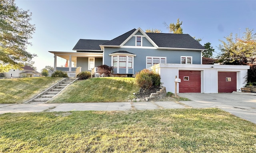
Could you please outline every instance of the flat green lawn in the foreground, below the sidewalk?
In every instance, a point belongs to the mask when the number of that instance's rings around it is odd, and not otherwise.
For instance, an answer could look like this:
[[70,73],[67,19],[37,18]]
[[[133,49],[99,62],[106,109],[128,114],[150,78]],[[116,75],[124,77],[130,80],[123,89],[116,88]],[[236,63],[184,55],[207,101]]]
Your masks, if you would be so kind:
[[220,109],[0,115],[2,153],[255,153],[256,125]]

